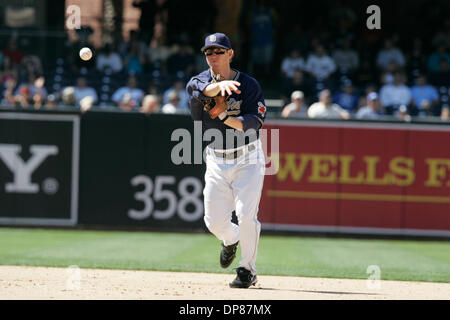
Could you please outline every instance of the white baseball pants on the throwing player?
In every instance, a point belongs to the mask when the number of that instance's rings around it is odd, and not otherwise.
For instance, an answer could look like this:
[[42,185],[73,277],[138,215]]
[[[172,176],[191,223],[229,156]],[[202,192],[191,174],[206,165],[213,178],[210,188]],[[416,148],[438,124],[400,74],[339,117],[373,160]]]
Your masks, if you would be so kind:
[[[209,231],[224,245],[239,241],[242,259],[240,267],[256,274],[256,256],[258,251],[261,224],[257,219],[259,201],[264,182],[265,158],[261,141],[253,143],[256,148],[247,147],[228,149],[234,152],[242,150],[236,159],[218,157],[217,149],[206,150],[205,223]],[[231,222],[232,211],[236,211],[239,226]]]

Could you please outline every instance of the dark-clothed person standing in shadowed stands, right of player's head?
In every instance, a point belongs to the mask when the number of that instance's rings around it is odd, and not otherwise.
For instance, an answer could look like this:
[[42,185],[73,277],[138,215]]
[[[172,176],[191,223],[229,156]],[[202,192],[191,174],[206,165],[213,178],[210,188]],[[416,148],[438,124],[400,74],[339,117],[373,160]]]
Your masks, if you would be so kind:
[[268,6],[265,0],[257,0],[249,18],[251,28],[249,72],[253,72],[254,66],[257,65],[265,74],[269,73],[276,21],[275,10]]

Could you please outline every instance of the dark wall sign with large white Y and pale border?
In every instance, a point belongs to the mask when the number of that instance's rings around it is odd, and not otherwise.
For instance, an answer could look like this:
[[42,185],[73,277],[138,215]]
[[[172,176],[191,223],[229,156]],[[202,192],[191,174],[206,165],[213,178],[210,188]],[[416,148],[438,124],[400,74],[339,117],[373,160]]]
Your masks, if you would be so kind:
[[0,113],[0,224],[73,226],[79,118]]

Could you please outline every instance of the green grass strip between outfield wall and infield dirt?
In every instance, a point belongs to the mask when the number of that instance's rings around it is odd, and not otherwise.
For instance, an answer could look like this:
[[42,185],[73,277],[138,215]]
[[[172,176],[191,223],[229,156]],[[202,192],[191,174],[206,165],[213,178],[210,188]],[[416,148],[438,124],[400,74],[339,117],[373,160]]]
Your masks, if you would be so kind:
[[[0,265],[232,273],[210,234],[0,228]],[[238,257],[240,252],[238,252]],[[262,236],[259,274],[450,282],[450,242]]]

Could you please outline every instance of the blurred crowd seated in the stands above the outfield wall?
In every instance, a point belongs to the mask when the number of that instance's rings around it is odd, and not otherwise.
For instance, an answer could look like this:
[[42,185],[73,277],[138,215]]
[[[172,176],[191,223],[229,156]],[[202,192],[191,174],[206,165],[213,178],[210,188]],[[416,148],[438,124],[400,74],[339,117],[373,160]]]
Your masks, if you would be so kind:
[[[266,94],[266,98],[284,101],[285,107],[275,112],[278,115],[340,119],[433,116],[448,120],[450,19],[435,33],[427,50],[421,37],[414,37],[411,48],[405,49],[398,35],[386,35],[370,55],[356,44],[351,32],[346,33],[345,23],[337,23],[342,35],[332,40],[320,30],[307,37],[296,25],[286,35],[286,55],[276,60],[274,30],[279,17],[265,1],[255,3],[249,16],[248,64],[241,70],[277,79],[279,95]],[[67,56],[53,64],[43,64],[38,56],[22,52],[18,39],[11,37],[0,51],[1,105],[34,109],[76,106],[83,111],[92,106],[115,106],[147,114],[189,113],[185,84],[207,68],[206,61],[186,33],[169,43],[167,13],[161,12],[152,19],[148,41],[139,30],[132,30],[128,40],[94,50],[88,62],[78,57],[81,47],[93,48],[82,33]],[[349,14],[342,16],[351,20]],[[242,61],[239,54],[236,59]],[[279,73],[271,73],[271,66]],[[264,90],[264,81],[262,84]]]

